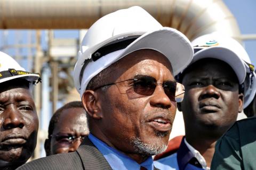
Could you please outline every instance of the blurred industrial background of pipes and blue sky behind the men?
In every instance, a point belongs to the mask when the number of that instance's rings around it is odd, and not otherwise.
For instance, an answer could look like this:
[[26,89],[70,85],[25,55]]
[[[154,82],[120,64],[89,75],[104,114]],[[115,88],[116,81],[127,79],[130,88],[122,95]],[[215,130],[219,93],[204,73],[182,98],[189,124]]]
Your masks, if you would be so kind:
[[[52,113],[64,103],[80,100],[73,68],[86,29],[103,15],[134,5],[190,40],[212,31],[230,35],[256,64],[254,0],[1,0],[0,51],[42,77],[34,91],[40,120],[34,158],[45,156],[43,142]],[[182,125],[180,117],[178,112],[176,121]],[[184,132],[175,131],[174,125],[171,137],[180,133]]]

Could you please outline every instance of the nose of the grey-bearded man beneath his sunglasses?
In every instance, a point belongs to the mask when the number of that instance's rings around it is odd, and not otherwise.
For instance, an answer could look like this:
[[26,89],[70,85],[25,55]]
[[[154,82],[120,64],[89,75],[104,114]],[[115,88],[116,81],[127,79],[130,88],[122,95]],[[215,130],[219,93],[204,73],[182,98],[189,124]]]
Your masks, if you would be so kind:
[[[175,96],[173,96],[173,99]],[[174,101],[175,102],[175,101]],[[157,85],[154,93],[150,98],[151,106],[168,109],[172,106],[170,98],[165,94],[164,88],[161,85]]]

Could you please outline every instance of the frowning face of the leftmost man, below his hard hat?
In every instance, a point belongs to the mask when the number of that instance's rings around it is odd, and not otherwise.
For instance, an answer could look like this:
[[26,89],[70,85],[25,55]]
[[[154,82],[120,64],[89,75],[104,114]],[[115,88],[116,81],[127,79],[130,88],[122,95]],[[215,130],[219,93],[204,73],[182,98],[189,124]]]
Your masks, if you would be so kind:
[[16,169],[36,147],[38,117],[33,96],[22,81],[0,86],[0,169]]

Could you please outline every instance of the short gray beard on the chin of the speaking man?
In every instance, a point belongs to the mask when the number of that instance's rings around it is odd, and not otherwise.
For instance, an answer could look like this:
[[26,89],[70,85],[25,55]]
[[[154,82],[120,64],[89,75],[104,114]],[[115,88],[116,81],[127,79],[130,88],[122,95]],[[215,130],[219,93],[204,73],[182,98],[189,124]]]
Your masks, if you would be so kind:
[[131,137],[130,140],[135,151],[145,156],[157,155],[167,149],[167,144],[163,144],[163,142],[149,144],[142,142],[139,137]]

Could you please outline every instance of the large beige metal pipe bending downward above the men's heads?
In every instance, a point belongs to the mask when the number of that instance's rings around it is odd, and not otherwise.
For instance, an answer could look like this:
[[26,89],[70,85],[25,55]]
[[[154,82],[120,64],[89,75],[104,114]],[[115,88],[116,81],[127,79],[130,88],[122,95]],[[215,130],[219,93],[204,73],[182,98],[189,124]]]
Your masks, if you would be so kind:
[[110,12],[138,5],[189,39],[212,31],[237,37],[234,16],[221,0],[2,0],[2,29],[82,29]]

